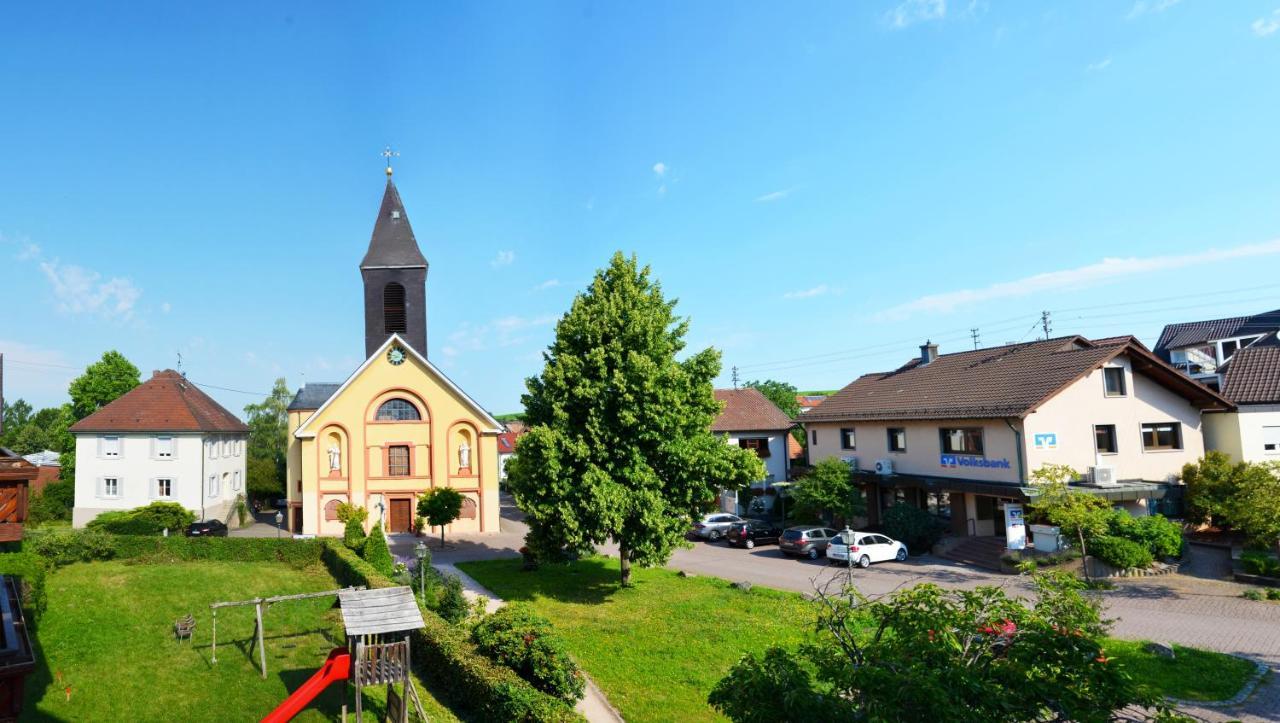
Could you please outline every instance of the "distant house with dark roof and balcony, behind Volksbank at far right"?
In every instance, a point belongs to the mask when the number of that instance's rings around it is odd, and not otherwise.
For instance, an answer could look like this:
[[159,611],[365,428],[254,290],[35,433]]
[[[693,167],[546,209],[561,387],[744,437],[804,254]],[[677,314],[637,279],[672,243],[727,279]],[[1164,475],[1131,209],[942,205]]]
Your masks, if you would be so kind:
[[1252,316],[1188,321],[1165,326],[1156,356],[1213,389],[1222,388],[1222,367],[1235,352],[1280,330],[1280,308]]

